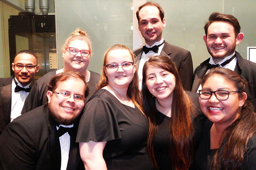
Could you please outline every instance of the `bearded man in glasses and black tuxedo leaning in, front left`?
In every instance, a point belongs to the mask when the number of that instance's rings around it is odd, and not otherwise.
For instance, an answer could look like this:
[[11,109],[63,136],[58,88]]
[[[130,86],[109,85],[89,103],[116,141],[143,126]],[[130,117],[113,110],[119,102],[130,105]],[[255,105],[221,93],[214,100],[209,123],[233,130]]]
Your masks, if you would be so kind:
[[48,102],[8,124],[0,136],[0,169],[84,169],[75,143],[88,85],[83,75],[55,75]]

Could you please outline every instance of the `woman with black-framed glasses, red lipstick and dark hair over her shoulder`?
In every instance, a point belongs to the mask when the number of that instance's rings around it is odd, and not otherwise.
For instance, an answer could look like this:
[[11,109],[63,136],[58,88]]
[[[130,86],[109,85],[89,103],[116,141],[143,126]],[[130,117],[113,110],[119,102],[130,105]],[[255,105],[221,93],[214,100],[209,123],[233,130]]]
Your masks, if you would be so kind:
[[247,101],[247,82],[226,68],[211,69],[202,79],[199,103],[208,118],[194,157],[201,170],[256,168],[256,114]]

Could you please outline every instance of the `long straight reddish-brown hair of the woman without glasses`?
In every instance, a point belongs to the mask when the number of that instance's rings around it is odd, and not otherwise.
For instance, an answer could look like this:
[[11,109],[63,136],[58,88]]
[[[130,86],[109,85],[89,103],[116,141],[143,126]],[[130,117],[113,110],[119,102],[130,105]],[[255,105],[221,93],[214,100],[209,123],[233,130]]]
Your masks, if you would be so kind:
[[[169,123],[169,153],[171,157],[171,166],[175,170],[188,169],[192,163],[194,154],[194,131],[191,121],[191,114],[195,114],[195,109],[190,98],[184,93],[181,79],[175,63],[165,56],[154,56],[149,58],[143,66],[142,79],[142,102],[145,114],[148,116],[149,133],[147,150],[149,156],[158,168],[154,155],[153,139],[156,134],[156,113],[155,97],[149,92],[145,86],[146,71],[149,66],[164,69],[172,73],[176,78],[176,84],[173,91],[173,101],[171,107],[171,119]],[[186,148],[186,149],[185,149]]]

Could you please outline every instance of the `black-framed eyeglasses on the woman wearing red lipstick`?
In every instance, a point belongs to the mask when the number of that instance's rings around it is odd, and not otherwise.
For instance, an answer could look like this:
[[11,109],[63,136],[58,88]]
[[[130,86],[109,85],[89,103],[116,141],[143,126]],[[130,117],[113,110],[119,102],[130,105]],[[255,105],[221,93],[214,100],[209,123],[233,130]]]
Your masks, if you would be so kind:
[[198,90],[198,91],[201,99],[210,99],[212,94],[214,93],[215,97],[218,100],[227,100],[231,92],[238,93],[238,91],[228,91],[228,90],[217,90],[217,91]]

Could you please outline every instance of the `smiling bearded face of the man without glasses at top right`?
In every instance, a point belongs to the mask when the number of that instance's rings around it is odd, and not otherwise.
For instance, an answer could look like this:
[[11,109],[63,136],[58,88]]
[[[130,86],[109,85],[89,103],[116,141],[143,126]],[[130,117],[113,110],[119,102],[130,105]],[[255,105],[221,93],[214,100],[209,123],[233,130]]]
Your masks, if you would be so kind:
[[235,36],[234,27],[227,22],[213,22],[203,36],[208,52],[215,63],[235,52],[236,45],[243,39],[243,33]]

